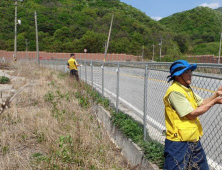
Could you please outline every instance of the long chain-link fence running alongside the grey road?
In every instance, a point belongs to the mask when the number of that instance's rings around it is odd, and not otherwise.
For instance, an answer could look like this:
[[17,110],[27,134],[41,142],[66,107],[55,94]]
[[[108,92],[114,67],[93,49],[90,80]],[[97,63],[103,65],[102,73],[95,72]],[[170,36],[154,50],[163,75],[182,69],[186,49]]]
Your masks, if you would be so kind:
[[[79,76],[135,120],[144,124],[144,132],[164,144],[165,119],[163,97],[171,63],[99,62],[79,60]],[[43,64],[43,62],[41,63]],[[48,61],[51,67],[68,72],[66,61]],[[56,66],[57,65],[57,66]],[[191,88],[202,98],[211,96],[222,80],[221,64],[198,64]],[[222,169],[222,105],[215,105],[200,116],[204,130],[202,145],[211,169]],[[144,133],[146,139],[146,133]]]

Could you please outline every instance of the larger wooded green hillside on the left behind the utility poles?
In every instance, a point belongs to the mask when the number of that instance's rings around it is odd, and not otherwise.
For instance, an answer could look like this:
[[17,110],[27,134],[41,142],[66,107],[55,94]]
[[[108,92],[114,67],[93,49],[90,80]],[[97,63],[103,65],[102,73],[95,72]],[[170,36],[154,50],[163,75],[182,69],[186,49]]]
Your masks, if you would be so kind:
[[[14,48],[14,4],[0,2],[0,48]],[[110,53],[141,55],[142,46],[158,43],[164,27],[145,13],[119,0],[25,0],[18,1],[18,50],[35,50],[37,12],[40,51],[104,52],[112,14],[114,14]],[[147,48],[145,52],[148,55]],[[151,51],[151,50],[150,50]]]

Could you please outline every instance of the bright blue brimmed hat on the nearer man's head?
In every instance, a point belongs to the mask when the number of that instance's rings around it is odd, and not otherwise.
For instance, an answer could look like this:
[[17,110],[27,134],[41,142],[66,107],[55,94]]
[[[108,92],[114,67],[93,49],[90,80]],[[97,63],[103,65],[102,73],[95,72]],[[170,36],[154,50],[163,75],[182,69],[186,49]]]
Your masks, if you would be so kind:
[[174,61],[170,66],[170,75],[168,82],[174,79],[175,76],[180,76],[185,71],[191,69],[191,71],[196,70],[197,64],[189,64],[186,60],[177,60]]

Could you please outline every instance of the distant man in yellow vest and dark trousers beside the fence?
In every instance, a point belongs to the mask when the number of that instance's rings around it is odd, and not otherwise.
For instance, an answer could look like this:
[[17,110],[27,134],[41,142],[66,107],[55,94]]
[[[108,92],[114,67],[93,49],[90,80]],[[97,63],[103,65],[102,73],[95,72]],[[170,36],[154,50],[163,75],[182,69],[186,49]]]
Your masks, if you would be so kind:
[[78,66],[79,64],[75,60],[75,54],[70,54],[70,59],[68,60],[68,68],[70,70],[70,76],[75,77],[77,81],[79,81],[79,75],[78,75]]

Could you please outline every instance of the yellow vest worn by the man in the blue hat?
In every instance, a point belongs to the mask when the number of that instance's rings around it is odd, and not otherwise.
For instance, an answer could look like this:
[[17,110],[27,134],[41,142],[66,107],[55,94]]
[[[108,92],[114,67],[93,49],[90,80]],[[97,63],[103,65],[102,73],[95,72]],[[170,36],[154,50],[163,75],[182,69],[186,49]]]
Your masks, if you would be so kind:
[[165,104],[165,123],[166,123],[166,138],[171,141],[189,141],[196,142],[203,135],[202,126],[199,118],[194,120],[188,119],[186,116],[179,117],[176,110],[172,108],[168,101],[168,95],[172,91],[177,91],[183,94],[190,102],[191,106],[197,108],[197,102],[190,88],[185,88],[178,82],[174,81],[168,88],[163,101]]

